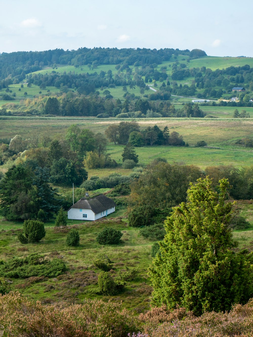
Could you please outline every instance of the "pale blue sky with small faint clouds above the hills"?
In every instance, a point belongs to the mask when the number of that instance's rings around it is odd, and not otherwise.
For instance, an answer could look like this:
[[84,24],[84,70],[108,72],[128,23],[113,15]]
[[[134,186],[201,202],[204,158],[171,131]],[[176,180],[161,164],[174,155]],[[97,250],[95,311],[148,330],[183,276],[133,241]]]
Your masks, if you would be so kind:
[[1,2],[0,53],[197,48],[210,56],[253,57],[252,0]]

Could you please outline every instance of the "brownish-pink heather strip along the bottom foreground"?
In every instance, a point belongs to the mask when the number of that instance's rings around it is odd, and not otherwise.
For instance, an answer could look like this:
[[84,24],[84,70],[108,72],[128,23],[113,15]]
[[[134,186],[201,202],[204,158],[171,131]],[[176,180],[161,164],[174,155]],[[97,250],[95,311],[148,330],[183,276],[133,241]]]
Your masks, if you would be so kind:
[[166,306],[134,316],[121,304],[86,300],[42,305],[19,293],[0,295],[3,337],[250,337],[253,330],[253,300],[234,305],[230,312],[194,316],[191,311]]

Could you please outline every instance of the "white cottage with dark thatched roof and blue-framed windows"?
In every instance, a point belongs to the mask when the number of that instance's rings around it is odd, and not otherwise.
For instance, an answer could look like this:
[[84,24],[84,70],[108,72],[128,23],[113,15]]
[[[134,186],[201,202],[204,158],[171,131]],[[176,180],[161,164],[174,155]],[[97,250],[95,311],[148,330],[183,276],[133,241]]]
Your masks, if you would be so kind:
[[103,194],[90,197],[88,193],[68,209],[68,219],[97,220],[115,212],[115,202]]

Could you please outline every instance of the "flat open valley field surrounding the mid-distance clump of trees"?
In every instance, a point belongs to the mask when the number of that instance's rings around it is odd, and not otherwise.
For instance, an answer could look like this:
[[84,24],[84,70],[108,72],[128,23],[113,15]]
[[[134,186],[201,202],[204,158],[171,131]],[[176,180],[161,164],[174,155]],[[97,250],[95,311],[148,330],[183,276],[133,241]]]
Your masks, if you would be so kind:
[[[209,107],[203,107],[209,108]],[[218,107],[214,107],[219,109]],[[228,109],[228,108],[227,108]],[[231,109],[229,109],[231,112]],[[229,113],[229,112],[228,112]],[[133,119],[125,119],[131,121]],[[166,125],[170,132],[177,131],[182,134],[184,141],[189,147],[172,146],[148,146],[135,148],[139,155],[140,164],[148,164],[156,157],[163,157],[168,162],[184,162],[194,164],[202,169],[208,165],[233,164],[236,167],[252,164],[253,149],[240,145],[235,145],[235,141],[242,138],[252,137],[252,119],[205,119],[205,118],[158,118],[158,119],[134,119],[139,123],[140,129],[157,124],[161,129]],[[36,117],[2,117],[1,137],[12,138],[15,134],[20,134],[27,138],[29,131],[48,128],[52,138],[64,137],[67,128],[72,124],[77,124],[80,128],[91,129],[94,133],[102,132],[112,123],[120,123],[120,119],[97,119],[97,118],[36,118]],[[221,149],[195,148],[198,141],[204,140],[208,146],[220,147]],[[121,163],[123,152],[122,145],[109,144],[108,153],[118,163]],[[120,173],[128,174],[128,170],[117,168]],[[115,169],[93,170],[100,171],[102,175],[107,175]]]

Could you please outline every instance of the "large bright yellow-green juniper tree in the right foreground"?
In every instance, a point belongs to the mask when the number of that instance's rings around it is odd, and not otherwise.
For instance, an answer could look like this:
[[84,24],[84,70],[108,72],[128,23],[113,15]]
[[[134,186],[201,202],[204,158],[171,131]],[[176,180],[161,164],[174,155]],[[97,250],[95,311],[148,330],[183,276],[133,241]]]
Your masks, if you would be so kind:
[[198,179],[187,191],[188,202],[165,220],[160,254],[149,269],[155,305],[180,305],[201,314],[229,310],[253,296],[252,253],[232,250],[228,186],[222,179],[215,192],[209,178]]

